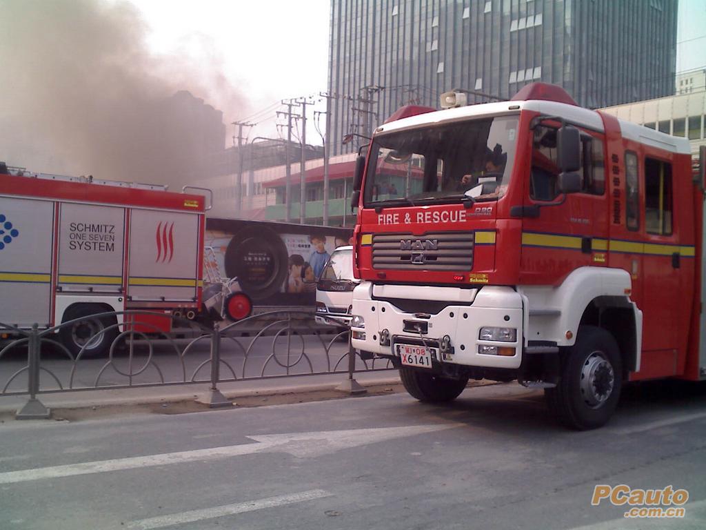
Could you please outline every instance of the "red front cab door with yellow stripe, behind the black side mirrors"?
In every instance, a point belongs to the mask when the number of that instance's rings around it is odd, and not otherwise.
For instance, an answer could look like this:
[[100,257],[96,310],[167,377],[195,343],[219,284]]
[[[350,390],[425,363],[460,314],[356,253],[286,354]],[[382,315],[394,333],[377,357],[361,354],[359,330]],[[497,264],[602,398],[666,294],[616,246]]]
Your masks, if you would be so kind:
[[604,139],[581,130],[582,190],[563,196],[557,187],[556,131],[543,124],[533,132],[525,208],[539,206],[539,216],[522,220],[520,266],[525,284],[558,285],[579,267],[606,265]]

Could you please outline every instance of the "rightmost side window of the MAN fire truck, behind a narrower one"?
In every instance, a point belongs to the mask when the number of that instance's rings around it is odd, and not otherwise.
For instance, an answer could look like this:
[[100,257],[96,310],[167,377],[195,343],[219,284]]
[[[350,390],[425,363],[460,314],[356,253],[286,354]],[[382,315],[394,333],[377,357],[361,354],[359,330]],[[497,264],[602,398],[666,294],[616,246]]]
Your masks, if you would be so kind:
[[645,158],[645,230],[671,235],[671,164]]

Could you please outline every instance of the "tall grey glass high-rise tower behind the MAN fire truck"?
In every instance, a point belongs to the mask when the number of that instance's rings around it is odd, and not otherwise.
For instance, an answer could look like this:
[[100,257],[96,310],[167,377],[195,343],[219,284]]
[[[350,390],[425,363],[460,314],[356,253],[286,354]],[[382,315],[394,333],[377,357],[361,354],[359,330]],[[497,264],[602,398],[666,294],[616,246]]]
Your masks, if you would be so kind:
[[[526,83],[586,107],[674,92],[678,0],[331,0],[333,153],[398,107],[452,89],[510,98]],[[469,94],[469,102],[489,100]]]

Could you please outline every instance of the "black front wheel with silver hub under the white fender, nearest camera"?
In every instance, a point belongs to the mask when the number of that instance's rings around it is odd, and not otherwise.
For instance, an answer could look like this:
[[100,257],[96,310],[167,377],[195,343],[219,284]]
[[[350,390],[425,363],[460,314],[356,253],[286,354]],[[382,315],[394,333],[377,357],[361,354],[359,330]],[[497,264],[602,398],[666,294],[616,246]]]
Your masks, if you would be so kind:
[[581,326],[574,346],[561,360],[555,388],[545,389],[549,409],[560,423],[577,430],[602,427],[613,415],[623,382],[623,363],[613,336]]

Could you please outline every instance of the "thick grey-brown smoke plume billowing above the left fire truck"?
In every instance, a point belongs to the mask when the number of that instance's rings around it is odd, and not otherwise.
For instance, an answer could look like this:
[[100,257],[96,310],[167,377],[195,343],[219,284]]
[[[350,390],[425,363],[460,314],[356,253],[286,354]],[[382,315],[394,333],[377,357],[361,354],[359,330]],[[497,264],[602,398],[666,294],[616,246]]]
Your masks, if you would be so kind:
[[217,54],[198,65],[153,57],[147,34],[124,1],[0,0],[0,160],[35,172],[198,182],[225,142],[222,113],[198,98],[231,115],[241,98]]

